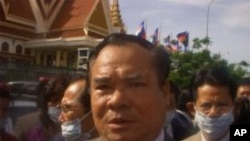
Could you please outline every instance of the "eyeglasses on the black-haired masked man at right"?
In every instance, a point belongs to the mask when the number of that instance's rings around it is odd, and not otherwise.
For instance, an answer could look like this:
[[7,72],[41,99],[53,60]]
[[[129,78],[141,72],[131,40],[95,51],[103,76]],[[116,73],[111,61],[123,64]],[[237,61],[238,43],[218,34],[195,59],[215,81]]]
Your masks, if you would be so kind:
[[227,111],[229,111],[230,109],[232,109],[231,105],[228,104],[201,104],[199,106],[197,106],[197,110],[199,110],[200,112],[204,113],[204,114],[209,114],[212,110],[217,112],[217,113],[225,113]]

